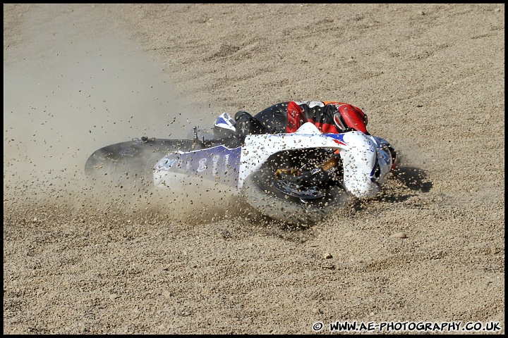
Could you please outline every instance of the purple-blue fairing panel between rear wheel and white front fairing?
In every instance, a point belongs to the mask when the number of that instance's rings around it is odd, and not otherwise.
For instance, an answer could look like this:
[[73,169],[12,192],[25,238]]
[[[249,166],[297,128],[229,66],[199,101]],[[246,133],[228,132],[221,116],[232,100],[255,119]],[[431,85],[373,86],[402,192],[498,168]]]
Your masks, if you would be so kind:
[[157,165],[155,170],[171,173],[199,175],[236,186],[240,168],[241,147],[229,149],[225,146],[214,146],[209,149],[189,151],[183,154],[169,154]]

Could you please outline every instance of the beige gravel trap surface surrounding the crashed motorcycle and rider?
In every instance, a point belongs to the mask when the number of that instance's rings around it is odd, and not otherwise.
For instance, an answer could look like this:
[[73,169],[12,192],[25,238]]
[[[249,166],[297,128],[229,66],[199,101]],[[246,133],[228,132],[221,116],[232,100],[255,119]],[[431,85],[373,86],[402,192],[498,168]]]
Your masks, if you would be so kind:
[[[107,144],[289,100],[364,109],[402,158],[380,196],[295,227],[85,180]],[[354,320],[504,333],[504,4],[4,4],[4,333]]]

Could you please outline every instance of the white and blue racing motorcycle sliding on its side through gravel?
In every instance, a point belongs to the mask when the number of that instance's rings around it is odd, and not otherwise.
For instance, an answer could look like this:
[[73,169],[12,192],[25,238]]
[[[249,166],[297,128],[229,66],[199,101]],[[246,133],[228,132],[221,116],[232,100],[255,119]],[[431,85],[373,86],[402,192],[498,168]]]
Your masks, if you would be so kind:
[[358,131],[321,134],[304,123],[294,133],[241,139],[200,137],[196,128],[189,139],[133,139],[95,151],[85,173],[175,191],[212,182],[269,218],[312,225],[352,199],[379,194],[395,163],[385,139]]

